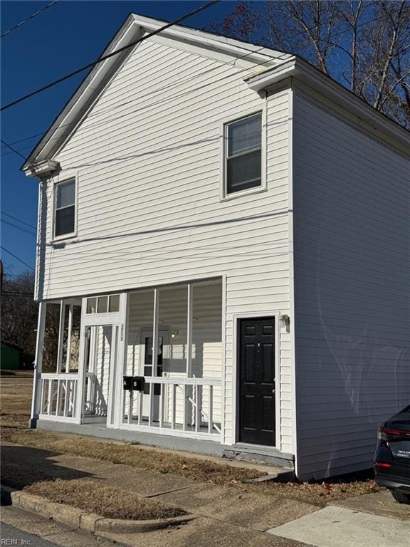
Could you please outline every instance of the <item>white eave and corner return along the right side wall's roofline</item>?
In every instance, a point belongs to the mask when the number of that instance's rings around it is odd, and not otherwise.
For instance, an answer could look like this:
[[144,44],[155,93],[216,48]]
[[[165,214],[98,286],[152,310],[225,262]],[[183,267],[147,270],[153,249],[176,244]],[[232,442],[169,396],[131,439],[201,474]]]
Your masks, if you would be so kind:
[[367,127],[375,130],[379,137],[393,141],[401,152],[410,155],[409,131],[303,59],[294,57],[267,71],[249,76],[246,78],[246,83],[249,88],[259,92],[285,78],[295,78],[296,81],[308,85],[320,93],[322,98],[331,100],[347,113],[357,116],[368,124]]

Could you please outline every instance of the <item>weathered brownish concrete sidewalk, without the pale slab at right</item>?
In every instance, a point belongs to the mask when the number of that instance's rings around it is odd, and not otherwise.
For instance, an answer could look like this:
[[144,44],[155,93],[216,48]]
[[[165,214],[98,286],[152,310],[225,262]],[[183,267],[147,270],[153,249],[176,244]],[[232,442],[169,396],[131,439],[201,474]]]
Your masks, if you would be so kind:
[[[144,546],[167,542],[169,546],[278,546],[300,547],[303,543],[265,533],[273,526],[317,511],[316,506],[254,491],[192,481],[177,474],[161,474],[123,464],[56,454],[16,444],[2,446],[2,461],[31,469],[43,479],[83,479],[105,486],[176,504],[197,518],[185,526],[144,533]],[[16,468],[16,472],[18,469]],[[141,544],[141,536],[115,536],[127,545]]]

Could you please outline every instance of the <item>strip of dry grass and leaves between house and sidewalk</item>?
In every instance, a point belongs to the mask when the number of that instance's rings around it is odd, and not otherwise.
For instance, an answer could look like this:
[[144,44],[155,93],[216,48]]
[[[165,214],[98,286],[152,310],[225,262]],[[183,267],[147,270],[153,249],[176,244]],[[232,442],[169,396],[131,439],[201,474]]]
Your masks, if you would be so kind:
[[99,459],[103,462],[125,464],[158,474],[172,473],[194,481],[233,486],[242,491],[282,496],[316,506],[326,506],[331,501],[348,499],[379,490],[372,476],[346,476],[323,482],[269,481],[249,484],[246,481],[263,475],[255,469],[231,467],[195,457],[181,457],[167,452],[151,451],[130,444],[99,442],[83,437],[66,437],[47,432],[24,429],[4,429],[3,440],[37,447],[52,452]]

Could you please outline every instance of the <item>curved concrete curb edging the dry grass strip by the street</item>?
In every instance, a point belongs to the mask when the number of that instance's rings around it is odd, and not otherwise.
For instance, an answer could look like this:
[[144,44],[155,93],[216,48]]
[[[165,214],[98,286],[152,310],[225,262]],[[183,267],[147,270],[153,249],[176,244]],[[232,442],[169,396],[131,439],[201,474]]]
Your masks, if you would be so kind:
[[84,509],[77,509],[70,505],[57,504],[55,501],[48,501],[41,496],[34,496],[23,491],[9,491],[11,504],[20,509],[33,511],[46,518],[80,528],[80,530],[98,533],[139,533],[149,532],[178,526],[193,520],[194,515],[175,516],[169,519],[154,519],[150,521],[126,521],[123,519],[108,519],[104,516],[90,513]]

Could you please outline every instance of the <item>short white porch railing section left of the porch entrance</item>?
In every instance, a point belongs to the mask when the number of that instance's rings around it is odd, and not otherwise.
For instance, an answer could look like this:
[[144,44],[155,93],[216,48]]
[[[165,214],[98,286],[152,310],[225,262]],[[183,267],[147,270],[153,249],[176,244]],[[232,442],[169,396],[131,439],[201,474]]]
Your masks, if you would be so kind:
[[40,417],[76,421],[78,374],[41,374]]

